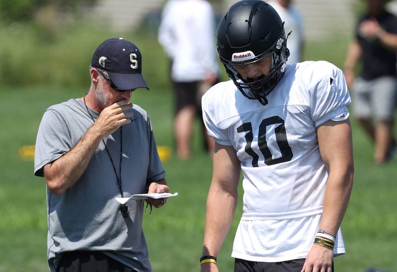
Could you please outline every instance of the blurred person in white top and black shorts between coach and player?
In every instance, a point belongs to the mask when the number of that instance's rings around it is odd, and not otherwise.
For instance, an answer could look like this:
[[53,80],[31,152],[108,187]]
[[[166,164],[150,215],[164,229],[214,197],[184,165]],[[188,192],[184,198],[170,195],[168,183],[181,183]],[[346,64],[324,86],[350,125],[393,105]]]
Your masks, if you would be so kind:
[[[201,116],[201,96],[218,77],[213,45],[214,13],[206,0],[170,0],[162,13],[158,40],[171,61],[175,90],[174,133],[178,156],[191,156],[195,117]],[[210,154],[214,142],[200,118],[204,144]]]

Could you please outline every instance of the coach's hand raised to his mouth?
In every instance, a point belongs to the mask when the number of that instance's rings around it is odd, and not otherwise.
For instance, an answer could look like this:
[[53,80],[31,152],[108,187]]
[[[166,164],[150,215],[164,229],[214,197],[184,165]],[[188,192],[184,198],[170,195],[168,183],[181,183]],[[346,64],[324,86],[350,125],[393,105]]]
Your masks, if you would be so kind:
[[101,138],[111,135],[121,126],[131,123],[132,113],[126,113],[130,109],[132,103],[127,99],[106,107],[95,121],[93,129],[101,135]]

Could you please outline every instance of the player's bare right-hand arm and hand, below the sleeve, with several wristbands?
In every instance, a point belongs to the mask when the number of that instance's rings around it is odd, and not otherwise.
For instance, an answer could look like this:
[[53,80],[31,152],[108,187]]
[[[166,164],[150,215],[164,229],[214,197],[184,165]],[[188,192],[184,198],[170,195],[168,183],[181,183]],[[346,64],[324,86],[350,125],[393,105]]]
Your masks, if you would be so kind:
[[[320,229],[336,234],[353,186],[353,147],[349,120],[328,121],[317,128],[321,157],[329,171]],[[302,271],[331,272],[333,251],[313,245]],[[322,270],[324,269],[324,270]]]

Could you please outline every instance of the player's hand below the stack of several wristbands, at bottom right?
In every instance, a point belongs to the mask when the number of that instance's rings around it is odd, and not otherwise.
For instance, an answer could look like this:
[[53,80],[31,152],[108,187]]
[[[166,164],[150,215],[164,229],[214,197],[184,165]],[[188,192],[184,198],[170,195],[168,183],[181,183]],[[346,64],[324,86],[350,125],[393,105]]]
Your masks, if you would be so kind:
[[301,272],[331,272],[332,260],[333,251],[331,249],[313,245]]

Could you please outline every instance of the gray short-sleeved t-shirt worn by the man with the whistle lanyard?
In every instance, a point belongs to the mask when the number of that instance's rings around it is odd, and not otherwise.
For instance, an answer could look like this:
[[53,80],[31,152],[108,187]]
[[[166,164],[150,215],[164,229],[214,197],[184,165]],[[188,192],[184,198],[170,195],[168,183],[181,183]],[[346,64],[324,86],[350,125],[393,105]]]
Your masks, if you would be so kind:
[[[94,119],[99,114],[89,109]],[[157,153],[150,118],[137,105],[130,124],[104,138],[117,174],[121,167],[124,197],[145,193],[146,181],[165,177]],[[34,174],[69,151],[92,126],[81,99],[51,106],[44,113],[36,139]],[[115,200],[120,197],[117,178],[101,141],[81,178],[62,196],[47,188],[48,262],[55,272],[63,252],[101,251],[136,271],[151,271],[142,231],[142,201],[127,203],[130,218],[123,218]]]

